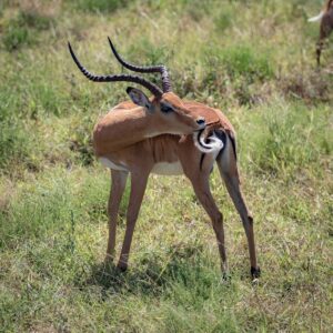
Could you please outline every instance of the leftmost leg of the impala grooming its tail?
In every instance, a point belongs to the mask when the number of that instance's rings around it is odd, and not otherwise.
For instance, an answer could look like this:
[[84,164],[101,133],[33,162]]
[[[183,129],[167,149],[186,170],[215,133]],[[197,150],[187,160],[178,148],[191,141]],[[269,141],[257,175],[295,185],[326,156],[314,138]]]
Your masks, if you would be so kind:
[[128,172],[111,170],[111,191],[108,203],[109,214],[109,241],[107,249],[105,262],[113,261],[115,246],[115,232],[118,211],[128,179]]

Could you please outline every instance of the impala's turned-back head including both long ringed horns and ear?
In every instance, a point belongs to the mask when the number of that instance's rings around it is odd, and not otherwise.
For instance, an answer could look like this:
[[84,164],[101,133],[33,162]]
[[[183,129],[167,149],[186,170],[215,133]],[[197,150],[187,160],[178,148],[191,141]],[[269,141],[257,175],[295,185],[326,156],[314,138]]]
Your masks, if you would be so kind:
[[115,82],[125,81],[139,83],[152,93],[152,98],[148,98],[143,91],[138,88],[128,87],[127,93],[132,102],[142,108],[145,117],[151,118],[149,121],[153,125],[157,133],[170,134],[190,134],[201,131],[205,128],[205,119],[198,114],[191,113],[182,100],[172,92],[168,70],[164,65],[138,67],[133,65],[117,52],[110,38],[109,42],[118,61],[127,69],[141,73],[160,73],[162,78],[162,89],[154,83],[139,75],[132,74],[110,74],[95,75],[89,72],[78,60],[71,44],[69,43],[70,53],[78,65],[79,70],[93,82]]

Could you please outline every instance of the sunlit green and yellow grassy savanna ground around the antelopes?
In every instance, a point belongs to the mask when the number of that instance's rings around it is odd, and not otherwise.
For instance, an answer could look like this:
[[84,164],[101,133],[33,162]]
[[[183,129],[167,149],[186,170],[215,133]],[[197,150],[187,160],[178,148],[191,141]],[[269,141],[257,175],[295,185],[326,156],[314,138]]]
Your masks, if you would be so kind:
[[[0,331],[329,332],[332,323],[333,41],[315,69],[321,0],[0,2]],[[238,131],[262,278],[216,171],[231,281],[182,176],[151,176],[125,274],[103,265],[109,172],[99,115],[127,98],[73,64],[167,63],[174,90]],[[158,78],[152,78],[157,80]],[[128,192],[127,192],[128,196]],[[118,252],[124,231],[121,208]]]

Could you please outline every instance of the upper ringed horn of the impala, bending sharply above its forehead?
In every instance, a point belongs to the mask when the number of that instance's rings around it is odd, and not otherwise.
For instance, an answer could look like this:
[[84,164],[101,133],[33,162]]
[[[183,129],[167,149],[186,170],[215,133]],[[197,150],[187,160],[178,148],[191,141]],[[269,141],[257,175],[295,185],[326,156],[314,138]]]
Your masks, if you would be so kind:
[[108,40],[109,40],[109,43],[110,43],[110,47],[111,47],[111,50],[112,50],[114,57],[124,68],[127,68],[131,71],[134,71],[134,72],[140,72],[140,73],[160,73],[162,77],[163,92],[171,91],[170,78],[169,78],[168,69],[165,65],[159,64],[159,65],[139,67],[139,65],[131,64],[120,57],[120,54],[117,52],[110,37],[108,37]]

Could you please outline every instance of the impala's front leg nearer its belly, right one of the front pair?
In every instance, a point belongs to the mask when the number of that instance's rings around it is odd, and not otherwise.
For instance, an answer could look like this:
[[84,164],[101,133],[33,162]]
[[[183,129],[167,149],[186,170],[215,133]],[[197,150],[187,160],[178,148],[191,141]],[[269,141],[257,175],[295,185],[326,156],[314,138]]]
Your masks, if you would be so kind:
[[148,175],[149,174],[144,174],[143,172],[131,174],[131,194],[127,213],[127,230],[118,263],[118,268],[121,271],[125,271],[128,268],[133,231],[145,191]]

